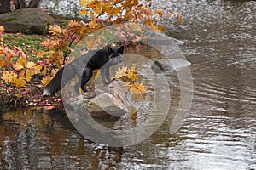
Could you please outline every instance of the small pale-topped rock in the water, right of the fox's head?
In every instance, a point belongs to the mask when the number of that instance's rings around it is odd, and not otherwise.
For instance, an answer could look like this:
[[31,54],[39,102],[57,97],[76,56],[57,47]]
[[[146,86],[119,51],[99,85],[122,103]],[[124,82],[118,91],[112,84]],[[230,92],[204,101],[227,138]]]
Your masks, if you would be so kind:
[[157,59],[151,66],[155,73],[174,71],[189,66],[191,63],[184,59]]

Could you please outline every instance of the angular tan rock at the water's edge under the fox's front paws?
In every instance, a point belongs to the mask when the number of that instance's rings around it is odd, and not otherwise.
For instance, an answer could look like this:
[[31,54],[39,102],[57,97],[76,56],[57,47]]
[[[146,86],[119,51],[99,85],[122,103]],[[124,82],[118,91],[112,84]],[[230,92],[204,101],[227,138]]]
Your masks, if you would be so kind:
[[128,93],[130,92],[125,83],[117,80],[103,88],[101,93],[96,93],[96,96],[92,99],[88,98],[89,94],[68,99],[67,106],[77,110],[84,105],[91,116],[111,115],[121,117],[128,111]]

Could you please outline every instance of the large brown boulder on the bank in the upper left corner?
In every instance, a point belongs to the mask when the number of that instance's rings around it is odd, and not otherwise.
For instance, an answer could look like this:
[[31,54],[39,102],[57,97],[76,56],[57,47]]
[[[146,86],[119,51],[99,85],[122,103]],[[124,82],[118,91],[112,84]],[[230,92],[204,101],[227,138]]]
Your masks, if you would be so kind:
[[39,8],[23,8],[0,14],[0,26],[13,33],[46,34],[48,25],[54,22],[54,18]]

